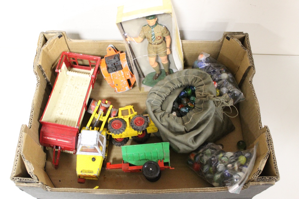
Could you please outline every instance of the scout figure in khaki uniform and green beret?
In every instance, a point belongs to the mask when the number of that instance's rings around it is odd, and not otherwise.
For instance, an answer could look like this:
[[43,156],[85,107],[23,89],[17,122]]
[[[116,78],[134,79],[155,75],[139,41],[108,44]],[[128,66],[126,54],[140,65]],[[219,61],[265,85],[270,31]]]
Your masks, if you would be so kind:
[[[152,79],[156,80],[161,75],[159,64],[156,61],[157,55],[161,58],[165,74],[170,75],[167,55],[171,53],[171,38],[167,28],[157,23],[156,15],[147,16],[145,18],[148,24],[144,25],[141,28],[139,36],[135,38],[128,36],[126,38],[126,41],[135,41],[137,43],[140,43],[144,38],[147,38],[147,41],[149,42],[149,44],[147,45],[149,64],[156,71]],[[164,37],[166,42],[164,41]]]

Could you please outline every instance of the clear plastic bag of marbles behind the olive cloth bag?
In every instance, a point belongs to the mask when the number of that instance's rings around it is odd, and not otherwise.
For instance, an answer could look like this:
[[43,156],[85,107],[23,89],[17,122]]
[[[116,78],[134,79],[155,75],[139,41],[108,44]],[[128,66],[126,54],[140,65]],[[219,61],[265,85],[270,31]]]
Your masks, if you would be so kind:
[[227,93],[234,100],[234,104],[245,100],[231,72],[210,54],[201,52],[198,60],[194,62],[193,68],[199,68],[210,75],[216,88],[217,97]]

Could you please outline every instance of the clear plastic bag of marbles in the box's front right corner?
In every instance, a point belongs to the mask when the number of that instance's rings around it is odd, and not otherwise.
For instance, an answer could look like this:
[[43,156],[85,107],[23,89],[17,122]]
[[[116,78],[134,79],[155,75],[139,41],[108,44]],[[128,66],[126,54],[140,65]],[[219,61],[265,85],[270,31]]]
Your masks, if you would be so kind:
[[192,152],[188,166],[215,187],[226,186],[231,193],[240,193],[256,158],[256,146],[237,152],[225,152],[222,145],[209,142]]

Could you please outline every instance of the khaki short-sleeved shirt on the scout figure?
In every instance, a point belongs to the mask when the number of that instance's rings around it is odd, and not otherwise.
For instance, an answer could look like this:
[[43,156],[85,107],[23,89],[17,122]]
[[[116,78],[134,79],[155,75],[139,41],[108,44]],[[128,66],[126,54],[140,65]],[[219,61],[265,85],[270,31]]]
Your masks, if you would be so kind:
[[149,26],[149,24],[146,24],[141,28],[139,37],[147,38],[147,41],[150,44],[161,43],[164,40],[164,37],[169,35],[169,31],[165,26],[158,23],[156,23],[153,27],[154,27],[155,38],[156,38],[154,42],[152,42],[152,28]]

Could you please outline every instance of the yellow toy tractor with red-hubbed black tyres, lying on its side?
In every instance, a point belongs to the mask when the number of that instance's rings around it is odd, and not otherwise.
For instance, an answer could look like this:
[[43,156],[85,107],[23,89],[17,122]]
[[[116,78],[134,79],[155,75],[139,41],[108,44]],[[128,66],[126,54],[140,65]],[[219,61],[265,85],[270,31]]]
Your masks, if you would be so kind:
[[138,115],[132,105],[119,108],[118,116],[109,118],[108,129],[107,134],[112,136],[115,146],[123,146],[131,138],[137,143],[144,143],[150,133],[158,132],[149,115]]

